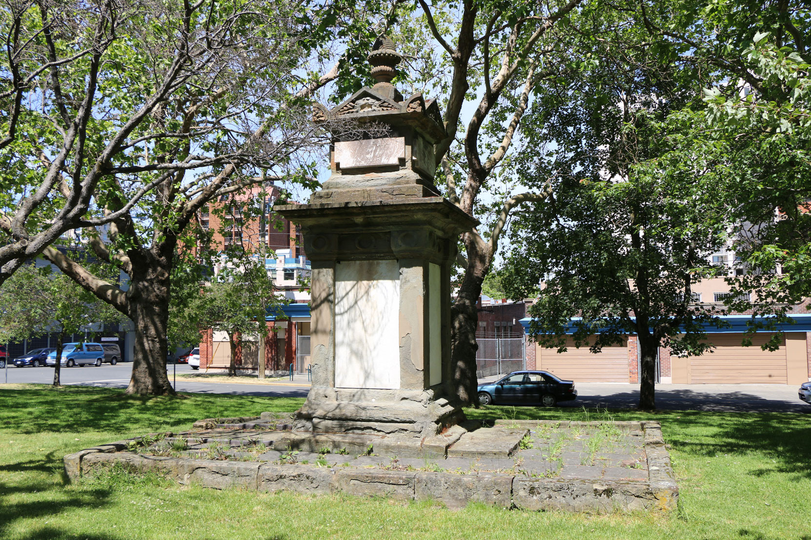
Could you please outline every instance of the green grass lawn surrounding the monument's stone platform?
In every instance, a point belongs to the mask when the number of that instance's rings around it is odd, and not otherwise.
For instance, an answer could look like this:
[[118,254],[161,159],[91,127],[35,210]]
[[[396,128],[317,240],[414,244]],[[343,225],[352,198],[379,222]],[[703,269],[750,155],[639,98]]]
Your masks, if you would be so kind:
[[[137,398],[122,391],[0,387],[0,538],[741,538],[811,539],[811,415],[611,410],[657,419],[680,487],[680,510],[584,516],[403,504],[345,495],[307,497],[182,487],[107,474],[68,484],[62,457],[195,419],[295,410],[302,400],[217,394]],[[811,412],[811,410],[809,410]],[[577,409],[488,407],[477,418],[603,419]]]

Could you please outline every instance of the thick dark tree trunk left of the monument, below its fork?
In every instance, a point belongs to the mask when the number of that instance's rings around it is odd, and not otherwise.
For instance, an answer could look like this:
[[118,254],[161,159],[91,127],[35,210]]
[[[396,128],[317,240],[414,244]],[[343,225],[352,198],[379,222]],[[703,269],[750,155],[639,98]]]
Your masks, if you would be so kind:
[[151,266],[133,268],[133,274],[127,300],[128,315],[135,325],[135,358],[127,393],[174,395],[166,375],[169,272]]

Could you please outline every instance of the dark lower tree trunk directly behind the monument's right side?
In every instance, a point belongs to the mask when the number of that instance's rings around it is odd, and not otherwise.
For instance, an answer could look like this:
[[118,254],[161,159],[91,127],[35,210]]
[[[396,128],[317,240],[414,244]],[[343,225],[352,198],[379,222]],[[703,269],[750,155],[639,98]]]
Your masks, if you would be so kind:
[[451,306],[451,368],[453,393],[465,405],[478,406],[476,378],[476,303],[482,294],[487,267],[470,264]]

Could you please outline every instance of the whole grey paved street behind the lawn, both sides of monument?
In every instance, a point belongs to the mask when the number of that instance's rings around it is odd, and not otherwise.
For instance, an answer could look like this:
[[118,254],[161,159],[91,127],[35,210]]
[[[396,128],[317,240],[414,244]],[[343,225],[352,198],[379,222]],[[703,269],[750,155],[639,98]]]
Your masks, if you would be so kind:
[[[172,381],[169,364],[169,381]],[[186,364],[177,365],[178,373],[192,372]],[[124,388],[130,381],[132,364],[103,364],[98,368],[62,368],[62,384]],[[8,368],[10,383],[45,383],[53,380],[54,368]],[[493,380],[488,377],[487,380]],[[6,370],[0,370],[0,382],[6,381]],[[783,411],[811,415],[811,405],[797,398],[799,385],[657,385],[656,405],[663,410],[740,410]],[[633,408],[639,402],[639,385],[618,383],[575,383],[577,401],[560,403],[561,407]],[[0,385],[2,389],[2,385]],[[196,382],[178,379],[182,392],[235,393],[254,396],[305,398],[307,376],[295,376],[294,382],[278,381],[267,385]]]

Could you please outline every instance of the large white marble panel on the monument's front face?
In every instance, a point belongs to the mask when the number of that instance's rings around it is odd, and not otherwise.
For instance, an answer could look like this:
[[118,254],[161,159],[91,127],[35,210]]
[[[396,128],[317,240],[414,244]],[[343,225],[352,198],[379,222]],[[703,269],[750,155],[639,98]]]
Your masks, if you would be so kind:
[[335,385],[400,388],[397,261],[335,265]]

